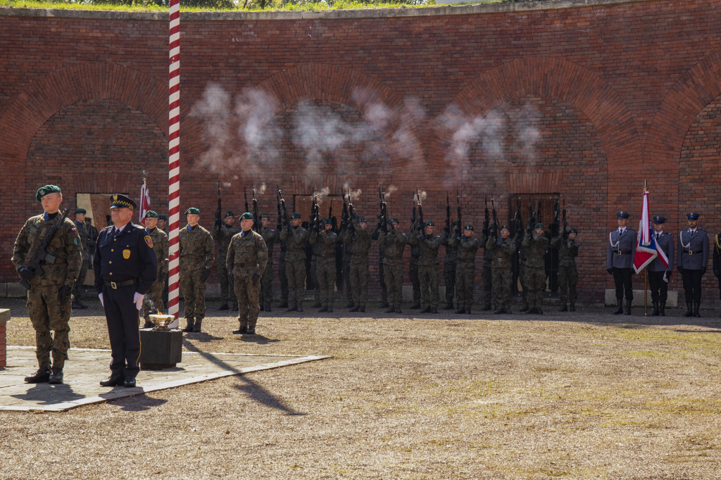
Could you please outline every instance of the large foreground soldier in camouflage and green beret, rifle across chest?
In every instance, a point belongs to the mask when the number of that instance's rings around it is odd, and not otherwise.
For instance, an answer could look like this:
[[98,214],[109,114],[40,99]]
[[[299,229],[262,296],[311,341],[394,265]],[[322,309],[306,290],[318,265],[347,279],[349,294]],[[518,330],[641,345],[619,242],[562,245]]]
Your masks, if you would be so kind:
[[[37,190],[35,200],[43,205],[44,213],[30,217],[15,240],[12,263],[22,280],[30,283],[27,291],[27,311],[35,329],[35,355],[40,368],[25,377],[27,383],[63,383],[63,367],[68,359],[71,313],[71,291],[81,266],[80,237],[73,221],[63,219],[60,204],[63,195],[55,185]],[[45,238],[48,228],[59,225],[45,251],[44,272],[25,267]],[[51,331],[55,332],[55,337]],[[50,364],[50,352],[53,363]]]

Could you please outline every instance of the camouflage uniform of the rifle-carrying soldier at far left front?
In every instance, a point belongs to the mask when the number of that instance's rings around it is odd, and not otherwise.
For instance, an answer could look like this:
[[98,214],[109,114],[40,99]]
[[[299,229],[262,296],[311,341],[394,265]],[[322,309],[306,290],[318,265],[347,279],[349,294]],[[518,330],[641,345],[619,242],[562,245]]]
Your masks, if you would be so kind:
[[[45,273],[30,279],[30,290],[27,292],[27,311],[35,329],[35,355],[40,368],[45,369],[50,368],[50,351],[53,352],[53,368],[62,369],[68,358],[71,295],[61,303],[58,291],[63,286],[73,288],[82,263],[77,228],[69,218],[61,224],[62,218],[63,215],[58,213],[50,220],[48,214],[43,213],[27,219],[17,235],[12,254],[12,262],[20,270],[25,267],[25,261],[35,254],[48,227],[60,225],[46,249],[54,259],[52,262],[45,260]],[[51,330],[55,332],[54,338]]]

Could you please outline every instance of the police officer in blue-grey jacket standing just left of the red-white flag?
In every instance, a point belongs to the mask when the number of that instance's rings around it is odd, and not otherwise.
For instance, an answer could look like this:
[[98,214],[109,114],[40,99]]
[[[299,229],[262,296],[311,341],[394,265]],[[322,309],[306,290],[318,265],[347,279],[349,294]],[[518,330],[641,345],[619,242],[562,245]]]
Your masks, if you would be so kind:
[[[633,301],[633,257],[636,253],[636,232],[627,228],[629,213],[621,210],[616,213],[619,228],[609,233],[609,248],[606,252],[606,271],[614,275],[616,284],[616,310],[614,315],[631,314]],[[624,311],[624,297],[626,310]]]

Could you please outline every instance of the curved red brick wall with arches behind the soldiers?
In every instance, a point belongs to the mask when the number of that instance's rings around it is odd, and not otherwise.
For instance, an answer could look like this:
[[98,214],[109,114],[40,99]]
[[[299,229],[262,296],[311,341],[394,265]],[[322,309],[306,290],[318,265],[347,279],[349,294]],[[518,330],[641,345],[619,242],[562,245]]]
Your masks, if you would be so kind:
[[[461,190],[476,224],[487,194],[558,192],[581,229],[581,300],[602,301],[613,213],[637,218],[644,179],[675,235],[690,208],[721,228],[721,7],[580,3],[184,14],[181,210],[210,226],[218,179],[234,210],[254,182],[286,197],[350,182],[368,216],[393,185],[404,222],[415,188],[441,222],[446,190]],[[133,193],[148,169],[154,207],[167,191],[167,19],[53,15],[0,12],[0,281],[45,182]],[[716,301],[710,273],[704,286]]]

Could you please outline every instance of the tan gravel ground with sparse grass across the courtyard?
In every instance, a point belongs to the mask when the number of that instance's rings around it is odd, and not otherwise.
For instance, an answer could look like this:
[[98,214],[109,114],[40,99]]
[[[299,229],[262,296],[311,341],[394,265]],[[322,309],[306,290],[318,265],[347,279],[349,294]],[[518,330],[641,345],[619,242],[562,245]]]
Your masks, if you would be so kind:
[[[34,345],[23,303],[2,303],[18,317],[9,345]],[[107,348],[99,304],[84,312],[72,345]],[[274,312],[255,339],[209,313],[188,349],[332,358],[59,414],[0,412],[1,476],[721,478],[721,323],[710,311]]]

